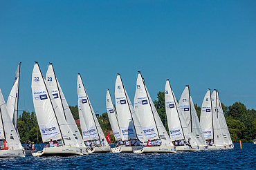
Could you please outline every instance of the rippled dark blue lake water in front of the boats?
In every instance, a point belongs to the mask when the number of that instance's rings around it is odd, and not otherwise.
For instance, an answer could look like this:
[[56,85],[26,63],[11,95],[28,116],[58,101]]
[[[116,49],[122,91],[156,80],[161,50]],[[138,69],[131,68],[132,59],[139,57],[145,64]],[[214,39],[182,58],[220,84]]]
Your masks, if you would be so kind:
[[1,158],[1,169],[256,169],[256,144],[243,149],[178,153],[93,153],[72,157]]

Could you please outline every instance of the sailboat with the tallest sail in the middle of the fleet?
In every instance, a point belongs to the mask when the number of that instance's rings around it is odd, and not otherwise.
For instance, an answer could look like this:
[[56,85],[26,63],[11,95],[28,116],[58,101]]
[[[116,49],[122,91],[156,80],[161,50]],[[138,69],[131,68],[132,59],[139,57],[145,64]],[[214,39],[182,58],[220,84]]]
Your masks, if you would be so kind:
[[143,127],[145,141],[161,140],[162,142],[160,146],[143,147],[143,152],[139,153],[176,153],[140,72],[138,72],[136,82],[136,96],[138,99],[138,115],[140,124]]

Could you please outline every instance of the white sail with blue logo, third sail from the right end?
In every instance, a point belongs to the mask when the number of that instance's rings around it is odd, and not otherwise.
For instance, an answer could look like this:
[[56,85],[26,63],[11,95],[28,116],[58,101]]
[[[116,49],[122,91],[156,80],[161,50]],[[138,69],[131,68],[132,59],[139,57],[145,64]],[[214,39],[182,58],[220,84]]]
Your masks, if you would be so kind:
[[213,139],[213,124],[212,124],[212,102],[210,90],[208,90],[203,99],[201,108],[200,124],[205,140]]

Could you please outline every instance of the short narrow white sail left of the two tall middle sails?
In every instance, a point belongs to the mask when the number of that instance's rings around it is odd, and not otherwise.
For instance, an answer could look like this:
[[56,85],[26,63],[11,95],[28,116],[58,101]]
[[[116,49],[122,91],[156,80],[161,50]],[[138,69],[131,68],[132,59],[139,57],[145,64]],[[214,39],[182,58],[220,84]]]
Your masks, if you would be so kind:
[[107,90],[107,95],[106,95],[106,106],[107,106],[107,115],[109,117],[109,122],[111,124],[113,135],[115,136],[116,140],[121,140],[120,127],[118,124],[118,119],[116,117],[116,109],[113,106],[113,102],[112,102],[109,90]]

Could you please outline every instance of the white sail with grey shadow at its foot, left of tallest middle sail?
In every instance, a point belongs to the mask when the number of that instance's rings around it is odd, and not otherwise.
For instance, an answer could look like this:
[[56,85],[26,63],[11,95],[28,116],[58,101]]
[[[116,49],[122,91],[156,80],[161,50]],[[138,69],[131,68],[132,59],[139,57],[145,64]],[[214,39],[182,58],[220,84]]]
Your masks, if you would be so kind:
[[129,100],[129,96],[125,91],[125,86],[122,84],[120,74],[116,77],[115,97],[116,112],[120,131],[122,132],[120,134],[122,140],[139,139],[145,142],[140,122]]

